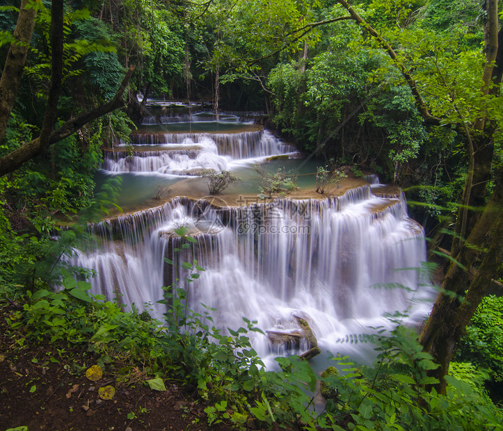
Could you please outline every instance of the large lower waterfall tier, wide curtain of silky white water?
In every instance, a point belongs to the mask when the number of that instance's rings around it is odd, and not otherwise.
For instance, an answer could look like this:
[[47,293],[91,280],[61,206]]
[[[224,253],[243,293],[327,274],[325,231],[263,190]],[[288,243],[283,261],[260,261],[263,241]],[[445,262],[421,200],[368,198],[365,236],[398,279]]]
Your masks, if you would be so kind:
[[[181,226],[197,238],[183,254],[175,252]],[[205,271],[178,286],[190,289],[191,309],[216,309],[217,327],[237,329],[246,317],[262,330],[291,332],[303,318],[321,350],[333,352],[338,339],[383,324],[384,313],[404,311],[420,298],[408,289],[420,285],[414,268],[426,260],[422,227],[408,218],[403,196],[376,197],[370,186],[323,200],[239,207],[178,197],[89,229],[102,248],[77,252],[72,263],[97,272],[93,293],[122,293],[138,307],[154,304],[159,317],[166,311],[156,304],[160,286],[184,280],[180,263],[197,259]],[[416,304],[415,313],[422,311]],[[253,336],[257,352],[268,355],[268,339]]]

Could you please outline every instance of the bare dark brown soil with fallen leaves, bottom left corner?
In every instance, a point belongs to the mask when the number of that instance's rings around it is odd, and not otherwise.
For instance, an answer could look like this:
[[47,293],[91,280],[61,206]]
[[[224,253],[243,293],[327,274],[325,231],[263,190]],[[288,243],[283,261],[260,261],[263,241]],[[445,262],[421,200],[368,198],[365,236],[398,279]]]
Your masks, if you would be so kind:
[[[0,321],[4,322],[1,315]],[[92,382],[85,375],[95,364],[92,357],[49,343],[19,348],[5,333],[0,334],[1,431],[19,426],[29,431],[232,429],[207,425],[205,405],[193,389],[165,382],[167,391],[152,391],[137,369],[121,383],[115,369],[122,365],[117,363]],[[63,350],[61,355],[58,350]],[[109,384],[115,387],[115,396],[101,400],[98,389]]]

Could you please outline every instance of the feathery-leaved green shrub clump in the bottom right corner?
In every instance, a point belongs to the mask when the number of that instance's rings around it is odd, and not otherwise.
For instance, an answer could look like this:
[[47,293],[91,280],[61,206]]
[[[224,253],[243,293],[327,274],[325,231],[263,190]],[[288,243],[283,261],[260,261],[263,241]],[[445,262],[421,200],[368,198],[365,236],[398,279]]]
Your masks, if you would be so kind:
[[436,382],[428,371],[438,365],[422,352],[416,338],[413,330],[404,327],[397,327],[389,337],[381,334],[376,368],[336,358],[344,375],[326,377],[337,397],[328,400],[319,425],[334,430],[501,429],[501,412],[470,385],[447,376],[447,396],[425,390]]

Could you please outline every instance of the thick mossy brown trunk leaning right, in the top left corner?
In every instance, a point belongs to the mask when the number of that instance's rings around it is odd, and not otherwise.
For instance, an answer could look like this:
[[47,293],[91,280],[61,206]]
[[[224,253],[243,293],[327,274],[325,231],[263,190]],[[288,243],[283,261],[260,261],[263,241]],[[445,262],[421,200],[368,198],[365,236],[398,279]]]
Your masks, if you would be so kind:
[[17,89],[30,47],[31,34],[35,26],[37,9],[29,0],[22,0],[19,7],[16,28],[13,37],[16,42],[10,44],[6,63],[0,78],[0,141],[7,128],[10,111],[13,110]]

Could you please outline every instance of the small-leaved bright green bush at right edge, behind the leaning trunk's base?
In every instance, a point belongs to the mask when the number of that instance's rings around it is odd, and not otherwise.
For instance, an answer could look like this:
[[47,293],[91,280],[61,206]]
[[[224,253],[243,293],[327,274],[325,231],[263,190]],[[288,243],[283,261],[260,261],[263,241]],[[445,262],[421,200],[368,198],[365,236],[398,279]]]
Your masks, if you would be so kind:
[[503,381],[503,298],[482,298],[466,334],[456,350],[456,359],[487,369],[496,382]]

